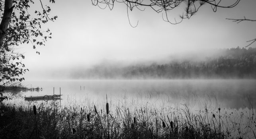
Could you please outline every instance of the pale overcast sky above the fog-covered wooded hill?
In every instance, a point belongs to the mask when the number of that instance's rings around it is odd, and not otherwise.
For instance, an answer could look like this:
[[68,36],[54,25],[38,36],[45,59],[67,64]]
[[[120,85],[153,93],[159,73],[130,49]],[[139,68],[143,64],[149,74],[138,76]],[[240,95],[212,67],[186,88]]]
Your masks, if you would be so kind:
[[[246,46],[256,37],[255,22],[235,23],[225,18],[256,19],[256,1],[241,0],[234,8],[217,8],[209,4],[182,23],[171,25],[162,14],[147,7],[145,11],[129,11],[124,4],[115,3],[113,10],[93,6],[90,0],[56,0],[49,4],[55,22],[44,25],[53,33],[46,46],[33,50],[31,44],[21,45],[22,62],[29,69],[26,79],[40,78],[48,71],[90,68],[104,62],[133,63],[166,60],[189,53],[207,56],[214,49]],[[232,0],[230,0],[232,3]],[[39,3],[31,6],[33,12]],[[182,8],[182,7],[181,7]],[[169,11],[169,19],[178,17]],[[253,44],[252,47],[255,47]],[[36,54],[40,52],[40,55]]]

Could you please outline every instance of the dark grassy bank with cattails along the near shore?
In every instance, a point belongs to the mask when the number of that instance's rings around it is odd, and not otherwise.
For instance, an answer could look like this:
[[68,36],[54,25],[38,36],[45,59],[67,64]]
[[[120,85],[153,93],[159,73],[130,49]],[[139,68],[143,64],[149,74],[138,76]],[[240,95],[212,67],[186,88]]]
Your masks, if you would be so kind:
[[247,117],[250,123],[244,129],[235,122],[239,117],[232,123],[230,121],[235,116],[222,114],[221,109],[213,113],[205,108],[192,114],[185,106],[165,115],[147,107],[131,110],[115,106],[113,111],[107,111],[107,105],[100,109],[94,104],[81,108],[42,102],[33,109],[33,105],[2,104],[4,115],[0,120],[0,138],[223,139],[247,138],[255,129],[254,114]]

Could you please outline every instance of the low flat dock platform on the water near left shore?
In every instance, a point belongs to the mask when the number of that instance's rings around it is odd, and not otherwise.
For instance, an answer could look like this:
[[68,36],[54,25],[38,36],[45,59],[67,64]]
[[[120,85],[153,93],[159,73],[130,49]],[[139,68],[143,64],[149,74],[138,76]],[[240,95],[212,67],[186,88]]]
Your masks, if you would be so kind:
[[24,97],[26,101],[37,101],[37,100],[61,100],[62,95],[44,95],[44,96],[30,96],[30,97]]

